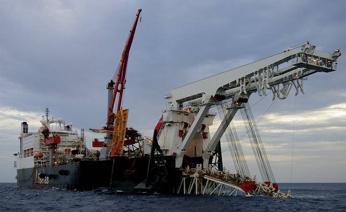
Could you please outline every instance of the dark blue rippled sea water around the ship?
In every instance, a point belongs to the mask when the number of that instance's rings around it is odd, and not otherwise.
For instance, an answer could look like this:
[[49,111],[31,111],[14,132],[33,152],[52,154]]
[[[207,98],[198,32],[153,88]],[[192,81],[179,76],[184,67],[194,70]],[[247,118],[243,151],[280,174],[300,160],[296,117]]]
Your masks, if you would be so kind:
[[0,212],[227,212],[340,211],[346,212],[346,183],[279,183],[294,198],[196,195],[144,195],[107,190],[68,191],[20,188],[0,183]]

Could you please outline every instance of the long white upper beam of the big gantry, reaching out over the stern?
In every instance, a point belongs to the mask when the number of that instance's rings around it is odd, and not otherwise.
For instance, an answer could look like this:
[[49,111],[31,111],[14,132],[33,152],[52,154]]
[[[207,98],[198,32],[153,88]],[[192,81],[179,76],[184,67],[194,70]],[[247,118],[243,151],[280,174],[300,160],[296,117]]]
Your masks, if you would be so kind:
[[[187,102],[193,99],[201,98],[202,94],[215,96],[216,94],[225,95],[227,90],[239,87],[241,81],[245,82],[244,78],[250,79],[253,78],[255,74],[262,74],[269,70],[270,72],[275,71],[279,65],[284,64],[293,58],[301,55],[305,55],[308,59],[318,59],[321,60],[324,66],[318,65],[318,71],[329,72],[335,71],[336,66],[333,63],[336,62],[336,59],[340,56],[340,52],[326,53],[321,52],[315,49],[314,45],[305,42],[302,46],[296,48],[289,48],[284,52],[279,54],[255,61],[253,63],[218,73],[216,75],[201,79],[199,81],[183,85],[171,90],[171,94],[165,96],[169,100],[170,105],[178,107],[178,104]],[[301,57],[300,57],[301,58]],[[317,65],[316,63],[308,63],[307,65],[313,66]],[[327,67],[326,65],[330,65]],[[297,67],[297,66],[296,66]],[[314,66],[315,67],[315,66]],[[306,68],[306,67],[297,67],[297,68]],[[281,74],[281,73],[280,73]],[[271,76],[268,74],[268,76]],[[253,79],[252,79],[253,80]],[[269,79],[266,79],[268,82]],[[257,80],[258,81],[258,80]],[[244,83],[243,83],[244,84]],[[267,86],[269,88],[269,85]],[[266,88],[267,88],[266,87]],[[244,86],[242,87],[244,88]],[[243,89],[244,90],[244,89]]]

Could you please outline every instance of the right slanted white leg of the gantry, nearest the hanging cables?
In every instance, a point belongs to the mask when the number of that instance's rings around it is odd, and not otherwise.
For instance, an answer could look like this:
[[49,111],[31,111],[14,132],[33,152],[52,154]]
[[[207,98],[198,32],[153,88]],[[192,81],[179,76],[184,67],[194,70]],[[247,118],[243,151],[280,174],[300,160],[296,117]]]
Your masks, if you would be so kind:
[[221,137],[223,136],[225,130],[227,129],[229,123],[232,121],[233,117],[237,113],[238,109],[240,107],[238,106],[232,106],[228,108],[227,113],[223,120],[221,121],[221,124],[218,126],[213,138],[210,140],[206,150],[203,154],[203,167],[208,167],[209,164],[209,158],[212,155],[212,151],[215,149],[216,144],[218,141],[220,141]]

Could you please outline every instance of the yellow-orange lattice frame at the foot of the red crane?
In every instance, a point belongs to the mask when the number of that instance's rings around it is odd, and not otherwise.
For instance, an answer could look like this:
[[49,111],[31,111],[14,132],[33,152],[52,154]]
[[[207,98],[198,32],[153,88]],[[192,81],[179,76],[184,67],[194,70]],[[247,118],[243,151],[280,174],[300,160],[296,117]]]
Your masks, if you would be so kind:
[[112,147],[112,156],[118,156],[123,153],[128,117],[129,108],[120,109],[117,114],[115,114],[115,123],[113,130],[90,129],[95,133],[112,134],[112,144],[107,145],[107,147]]

